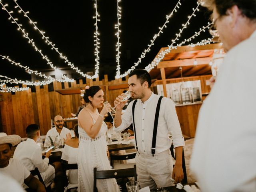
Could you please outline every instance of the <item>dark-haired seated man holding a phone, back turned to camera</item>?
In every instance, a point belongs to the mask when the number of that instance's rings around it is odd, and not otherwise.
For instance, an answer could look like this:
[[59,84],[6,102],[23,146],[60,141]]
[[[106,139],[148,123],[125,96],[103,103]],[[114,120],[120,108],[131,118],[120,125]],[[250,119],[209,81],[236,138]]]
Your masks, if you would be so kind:
[[38,125],[29,125],[26,128],[26,134],[28,139],[18,144],[13,158],[21,160],[30,171],[37,167],[46,186],[49,186],[54,180],[56,190],[63,192],[65,181],[62,179],[65,177],[60,162],[54,162],[52,165],[49,165],[51,150],[46,153],[46,157],[43,160],[42,149],[36,144],[38,138],[40,138]]

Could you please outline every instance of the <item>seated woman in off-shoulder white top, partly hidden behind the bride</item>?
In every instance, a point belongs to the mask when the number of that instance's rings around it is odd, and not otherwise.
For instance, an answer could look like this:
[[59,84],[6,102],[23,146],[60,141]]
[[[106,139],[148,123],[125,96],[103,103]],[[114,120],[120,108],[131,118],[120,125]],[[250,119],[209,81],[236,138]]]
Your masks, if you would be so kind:
[[[68,164],[77,163],[76,156],[78,153],[78,124],[74,127],[75,138],[66,141],[66,145],[62,151],[61,158],[68,162]],[[77,187],[78,185],[78,170],[68,170],[68,189]]]

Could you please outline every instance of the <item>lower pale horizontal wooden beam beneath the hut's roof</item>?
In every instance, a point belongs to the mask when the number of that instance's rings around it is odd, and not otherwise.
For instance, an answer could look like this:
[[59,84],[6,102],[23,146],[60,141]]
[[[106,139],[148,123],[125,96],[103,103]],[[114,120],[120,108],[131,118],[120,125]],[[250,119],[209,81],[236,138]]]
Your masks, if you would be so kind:
[[182,59],[182,60],[172,60],[172,61],[161,61],[157,65],[157,68],[167,68],[167,67],[184,67],[184,66],[193,66],[194,61],[197,61],[197,65],[205,65],[208,64],[212,57],[203,57],[196,59]]

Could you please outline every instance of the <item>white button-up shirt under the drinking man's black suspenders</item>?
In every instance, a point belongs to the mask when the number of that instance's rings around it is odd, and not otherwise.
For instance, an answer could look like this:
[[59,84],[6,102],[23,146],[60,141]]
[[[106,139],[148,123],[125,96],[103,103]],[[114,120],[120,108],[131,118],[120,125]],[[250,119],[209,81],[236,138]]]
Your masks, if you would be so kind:
[[[144,103],[138,99],[134,110],[134,122],[136,128],[136,139],[138,151],[140,154],[151,154],[152,138],[154,130],[154,120],[156,106],[159,95],[152,92],[150,98]],[[132,104],[130,102],[126,108],[126,112],[122,115],[122,124],[117,128],[116,132],[122,132],[132,124]],[[158,128],[156,134],[156,152],[158,154],[170,149],[172,140],[168,137],[168,132],[172,134],[174,148],[184,146],[184,138],[181,133],[180,123],[176,114],[175,105],[169,98],[162,98],[160,112],[158,118]]]

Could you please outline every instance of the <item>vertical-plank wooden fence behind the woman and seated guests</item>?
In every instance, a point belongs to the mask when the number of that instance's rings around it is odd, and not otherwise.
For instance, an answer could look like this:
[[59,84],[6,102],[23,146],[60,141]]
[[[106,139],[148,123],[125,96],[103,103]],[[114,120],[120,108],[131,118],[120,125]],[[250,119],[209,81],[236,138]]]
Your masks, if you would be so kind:
[[[128,79],[108,81],[105,75],[103,80],[86,79],[83,84],[82,79],[79,84],[76,82],[64,83],[64,88],[76,88],[93,85],[104,86],[105,99],[113,105],[113,102],[124,90],[128,90]],[[62,89],[61,82],[53,82],[54,90]],[[0,93],[0,132],[6,134],[18,134],[26,137],[26,127],[29,124],[38,124],[41,134],[46,134],[51,128],[51,120],[54,116],[61,115],[64,118],[71,117],[71,112],[75,113],[80,106],[80,94],[62,95],[56,91],[48,91],[48,85],[36,86],[36,92],[31,89],[12,93]],[[74,123],[67,122],[67,127],[72,127]]]

